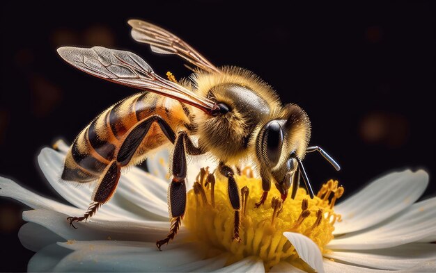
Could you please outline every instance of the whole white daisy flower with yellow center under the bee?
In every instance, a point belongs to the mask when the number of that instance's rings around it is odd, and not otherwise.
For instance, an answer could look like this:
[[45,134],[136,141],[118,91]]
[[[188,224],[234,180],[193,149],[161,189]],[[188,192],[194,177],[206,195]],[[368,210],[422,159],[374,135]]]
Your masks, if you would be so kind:
[[[249,169],[242,189],[242,242],[233,242],[233,210],[225,179],[190,185],[182,229],[158,251],[169,231],[166,190],[168,152],[148,159],[150,173],[133,167],[116,194],[88,222],[72,229],[66,218],[81,215],[92,189],[60,183],[68,146],[42,149],[38,163],[52,187],[70,203],[36,195],[0,177],[0,195],[33,208],[24,211],[19,237],[36,251],[31,272],[435,272],[436,197],[416,202],[428,184],[423,170],[393,172],[336,204],[343,188],[328,181],[314,199],[299,189],[295,199],[262,194]],[[201,160],[189,169],[194,180]],[[207,185],[206,185],[207,184]]]

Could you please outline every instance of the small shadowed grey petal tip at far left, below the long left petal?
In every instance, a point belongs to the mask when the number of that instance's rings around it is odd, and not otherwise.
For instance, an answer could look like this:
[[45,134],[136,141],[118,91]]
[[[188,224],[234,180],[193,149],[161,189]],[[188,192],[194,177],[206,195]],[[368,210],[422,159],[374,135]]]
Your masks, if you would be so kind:
[[34,223],[26,223],[22,225],[20,231],[18,231],[18,238],[20,238],[23,247],[34,252],[47,247],[47,245],[64,241],[64,238],[61,236]]

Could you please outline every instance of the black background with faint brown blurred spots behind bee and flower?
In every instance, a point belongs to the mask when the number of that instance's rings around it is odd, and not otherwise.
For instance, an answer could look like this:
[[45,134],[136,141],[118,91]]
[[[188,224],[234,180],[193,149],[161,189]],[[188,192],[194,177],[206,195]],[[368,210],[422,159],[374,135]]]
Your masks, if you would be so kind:
[[[58,138],[72,141],[88,122],[135,90],[88,76],[56,54],[65,45],[138,53],[164,75],[188,76],[174,56],[157,56],[130,38],[127,19],[158,24],[215,65],[238,65],[270,83],[283,103],[311,118],[306,158],[318,188],[336,178],[350,196],[392,169],[423,167],[435,180],[435,8],[430,1],[297,4],[228,3],[2,4],[0,174],[60,199],[36,156]],[[9,6],[8,6],[9,5]],[[17,239],[24,206],[0,200],[0,270],[24,271],[33,255]]]

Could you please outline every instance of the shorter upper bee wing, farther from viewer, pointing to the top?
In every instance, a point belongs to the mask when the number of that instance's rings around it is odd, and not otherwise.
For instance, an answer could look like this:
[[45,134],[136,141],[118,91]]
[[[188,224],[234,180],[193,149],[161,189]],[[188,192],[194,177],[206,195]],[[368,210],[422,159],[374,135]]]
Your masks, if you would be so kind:
[[153,52],[176,54],[205,71],[220,72],[215,65],[212,65],[189,44],[164,28],[138,19],[131,19],[127,23],[132,26],[132,38],[138,42],[150,44]]

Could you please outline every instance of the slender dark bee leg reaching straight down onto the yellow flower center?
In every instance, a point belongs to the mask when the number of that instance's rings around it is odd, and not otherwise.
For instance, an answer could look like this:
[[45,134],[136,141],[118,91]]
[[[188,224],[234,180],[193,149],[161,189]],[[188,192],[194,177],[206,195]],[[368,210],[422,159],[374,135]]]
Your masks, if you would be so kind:
[[240,209],[241,209],[241,196],[238,184],[235,181],[235,172],[231,167],[228,167],[224,163],[219,163],[219,172],[227,177],[228,185],[228,198],[230,199],[230,203],[235,210],[235,228],[233,229],[233,240],[236,242],[241,242],[241,238],[239,237],[239,226],[240,226]]

